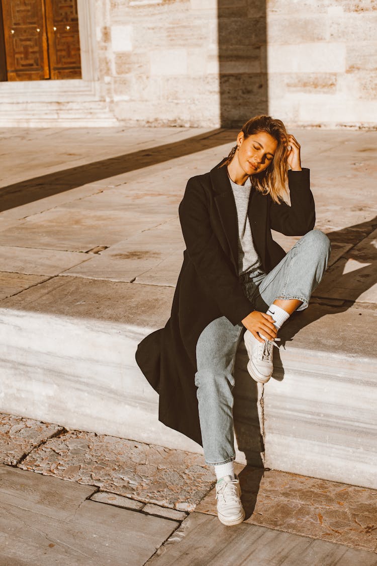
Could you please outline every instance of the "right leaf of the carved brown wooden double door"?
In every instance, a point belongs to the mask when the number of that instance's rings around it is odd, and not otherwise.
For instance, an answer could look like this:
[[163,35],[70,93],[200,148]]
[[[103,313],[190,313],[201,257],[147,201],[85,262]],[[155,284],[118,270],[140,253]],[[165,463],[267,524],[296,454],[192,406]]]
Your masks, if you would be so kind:
[[80,79],[77,0],[45,0],[51,79]]

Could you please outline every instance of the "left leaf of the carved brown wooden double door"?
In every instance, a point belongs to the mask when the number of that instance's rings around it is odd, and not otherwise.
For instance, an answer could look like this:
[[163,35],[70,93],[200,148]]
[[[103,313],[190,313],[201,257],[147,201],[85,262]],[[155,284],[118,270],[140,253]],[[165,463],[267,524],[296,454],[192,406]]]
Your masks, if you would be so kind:
[[50,76],[42,0],[2,2],[8,80],[40,80]]

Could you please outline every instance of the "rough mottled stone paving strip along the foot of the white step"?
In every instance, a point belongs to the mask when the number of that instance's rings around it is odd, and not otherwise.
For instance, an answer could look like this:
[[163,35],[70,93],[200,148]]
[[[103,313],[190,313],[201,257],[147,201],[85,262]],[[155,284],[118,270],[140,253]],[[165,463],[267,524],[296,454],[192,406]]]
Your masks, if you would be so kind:
[[[176,521],[192,511],[216,515],[213,471],[198,454],[5,414],[0,426],[0,462],[14,457],[27,426],[33,442],[18,468],[96,486],[92,499],[116,507]],[[377,552],[376,490],[240,464],[236,471],[246,523]]]

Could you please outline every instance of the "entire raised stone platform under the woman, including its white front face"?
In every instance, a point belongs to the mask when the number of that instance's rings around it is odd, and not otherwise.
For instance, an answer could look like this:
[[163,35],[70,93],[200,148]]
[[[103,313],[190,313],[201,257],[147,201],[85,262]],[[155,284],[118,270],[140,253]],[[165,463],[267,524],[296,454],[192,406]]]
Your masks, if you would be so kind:
[[[0,132],[0,409],[200,452],[158,423],[157,395],[134,355],[170,313],[184,249],[177,207],[187,179],[226,155],[236,133]],[[332,242],[331,267],[309,309],[281,333],[285,350],[263,393],[262,456],[259,440],[250,444],[261,392],[239,375],[237,458],[377,487],[377,134],[293,133],[311,170],[316,226]],[[286,249],[297,239],[274,236]],[[255,405],[247,430],[244,399]]]

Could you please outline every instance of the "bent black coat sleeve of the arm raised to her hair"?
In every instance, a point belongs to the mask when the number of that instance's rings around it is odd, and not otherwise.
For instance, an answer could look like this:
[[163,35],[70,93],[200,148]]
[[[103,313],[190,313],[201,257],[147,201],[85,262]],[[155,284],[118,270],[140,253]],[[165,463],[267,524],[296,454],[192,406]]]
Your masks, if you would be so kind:
[[303,236],[313,230],[315,224],[314,198],[310,190],[309,169],[288,171],[291,206],[272,203],[270,226],[287,236]]

